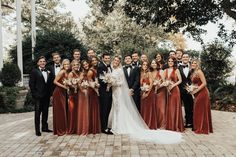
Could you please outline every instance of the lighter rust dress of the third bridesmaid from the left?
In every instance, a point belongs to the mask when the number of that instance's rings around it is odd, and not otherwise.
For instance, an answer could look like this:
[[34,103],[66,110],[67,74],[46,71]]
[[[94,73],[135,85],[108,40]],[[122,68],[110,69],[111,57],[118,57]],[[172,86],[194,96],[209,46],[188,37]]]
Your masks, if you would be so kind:
[[[84,76],[83,80],[88,80]],[[78,108],[77,108],[77,131],[78,135],[89,134],[89,96],[88,88],[80,88],[78,93]]]

